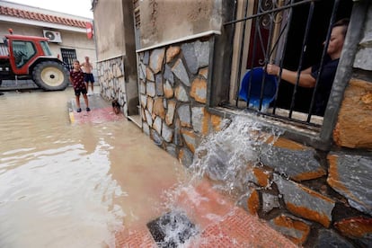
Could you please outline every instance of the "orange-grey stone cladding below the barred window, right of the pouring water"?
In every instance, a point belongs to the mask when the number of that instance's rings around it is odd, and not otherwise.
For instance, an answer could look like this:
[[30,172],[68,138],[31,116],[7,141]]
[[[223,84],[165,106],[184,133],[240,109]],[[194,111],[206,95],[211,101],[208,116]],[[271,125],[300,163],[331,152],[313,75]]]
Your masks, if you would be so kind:
[[298,245],[370,246],[371,156],[318,152],[285,137],[272,144],[261,166],[248,167],[253,184],[240,204]]

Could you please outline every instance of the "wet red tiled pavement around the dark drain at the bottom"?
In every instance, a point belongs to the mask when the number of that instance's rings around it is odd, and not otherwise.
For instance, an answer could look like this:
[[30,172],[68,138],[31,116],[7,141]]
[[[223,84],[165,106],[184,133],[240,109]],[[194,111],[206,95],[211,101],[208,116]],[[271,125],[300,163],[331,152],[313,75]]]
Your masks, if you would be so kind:
[[[182,205],[188,206],[183,208],[184,211],[201,230],[199,235],[190,238],[189,244],[182,247],[297,247],[258,217],[248,215],[244,209],[224,199],[208,182],[201,183],[193,190],[189,194],[187,192],[192,190],[185,189],[179,195],[177,205],[181,208]],[[195,201],[195,194],[204,200]],[[157,247],[146,226],[118,233],[116,246]]]

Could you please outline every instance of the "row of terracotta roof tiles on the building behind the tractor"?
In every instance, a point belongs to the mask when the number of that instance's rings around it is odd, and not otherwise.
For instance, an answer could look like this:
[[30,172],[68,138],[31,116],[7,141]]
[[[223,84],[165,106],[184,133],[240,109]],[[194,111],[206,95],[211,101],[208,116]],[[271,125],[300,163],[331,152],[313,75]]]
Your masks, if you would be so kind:
[[29,19],[34,21],[41,21],[41,22],[52,22],[57,24],[62,24],[66,26],[78,27],[78,28],[85,28],[86,22],[79,21],[76,19],[70,18],[61,18],[56,15],[51,14],[44,14],[44,13],[36,13],[31,11],[25,11],[21,9],[15,9],[11,7],[0,6],[0,14],[14,16],[22,19]]

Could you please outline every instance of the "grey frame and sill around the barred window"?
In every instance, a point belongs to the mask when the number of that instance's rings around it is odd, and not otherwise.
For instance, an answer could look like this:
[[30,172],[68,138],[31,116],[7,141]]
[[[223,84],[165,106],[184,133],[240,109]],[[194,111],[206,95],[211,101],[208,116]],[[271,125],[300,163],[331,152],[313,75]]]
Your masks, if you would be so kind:
[[[338,1],[338,0],[336,0]],[[235,6],[226,7],[225,21],[231,22],[235,20]],[[278,118],[257,114],[257,112],[242,111],[234,108],[223,106],[224,102],[229,99],[229,87],[231,75],[232,46],[234,44],[234,27],[233,25],[224,26],[224,31],[221,37],[214,37],[211,42],[211,74],[208,80],[208,111],[226,118],[232,118],[235,115],[247,115],[249,118],[269,122],[270,124],[281,128],[283,136],[301,143],[306,143],[309,146],[314,146],[320,150],[329,150],[332,146],[332,132],[338,118],[338,112],[341,108],[344,90],[350,81],[352,75],[353,58],[355,57],[358,38],[361,35],[360,22],[355,16],[360,16],[361,13],[355,14],[354,8],[351,12],[350,25],[347,36],[345,38],[344,47],[342,50],[339,66],[332,85],[330,101],[327,104],[324,116],[323,125],[320,128],[304,126],[298,123],[293,123],[288,120],[280,120]],[[366,13],[364,13],[365,16]],[[233,18],[231,18],[233,16]],[[358,27],[358,28],[357,28]],[[356,39],[357,38],[357,39]],[[224,52],[221,52],[223,50]],[[226,81],[229,84],[226,86]],[[212,83],[213,82],[213,83]]]

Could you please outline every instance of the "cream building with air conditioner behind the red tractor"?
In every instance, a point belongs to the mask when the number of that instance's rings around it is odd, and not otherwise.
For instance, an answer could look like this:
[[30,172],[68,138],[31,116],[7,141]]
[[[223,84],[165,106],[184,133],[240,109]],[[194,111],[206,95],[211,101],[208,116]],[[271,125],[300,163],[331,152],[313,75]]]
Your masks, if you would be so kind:
[[[76,58],[81,62],[85,56],[93,62],[96,60],[95,42],[87,32],[93,24],[92,19],[0,0],[0,21],[0,36],[3,38],[9,34],[9,29],[13,30],[13,34],[49,38],[52,54],[69,68]],[[0,46],[4,45],[3,42],[1,39]],[[3,82],[2,86],[37,87],[31,80],[17,85],[13,81]]]

